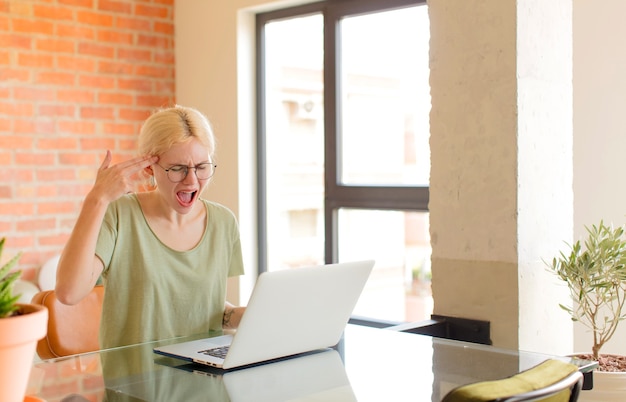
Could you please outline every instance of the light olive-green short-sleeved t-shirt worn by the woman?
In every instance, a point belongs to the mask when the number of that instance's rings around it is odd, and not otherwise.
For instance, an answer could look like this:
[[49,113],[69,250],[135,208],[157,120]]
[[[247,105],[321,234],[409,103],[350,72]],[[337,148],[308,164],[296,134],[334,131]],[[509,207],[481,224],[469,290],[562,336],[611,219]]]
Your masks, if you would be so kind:
[[135,194],[111,203],[96,246],[104,263],[102,348],[222,329],[227,278],[243,274],[239,227],[229,209],[200,201],[206,229],[189,251],[158,239]]

